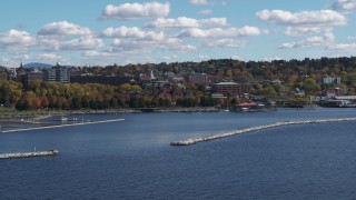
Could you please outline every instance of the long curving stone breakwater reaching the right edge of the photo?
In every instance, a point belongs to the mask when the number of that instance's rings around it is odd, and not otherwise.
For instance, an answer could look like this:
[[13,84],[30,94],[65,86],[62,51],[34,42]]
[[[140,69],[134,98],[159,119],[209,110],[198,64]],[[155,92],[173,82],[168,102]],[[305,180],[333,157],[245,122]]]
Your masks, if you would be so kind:
[[202,136],[202,137],[191,138],[191,139],[187,139],[187,140],[171,142],[170,144],[171,146],[190,146],[190,144],[195,144],[198,142],[216,140],[216,139],[220,139],[220,138],[225,138],[225,137],[230,137],[230,136],[236,136],[236,134],[241,134],[241,133],[258,131],[258,130],[264,130],[264,129],[270,129],[270,128],[281,127],[281,126],[306,124],[306,123],[325,123],[325,122],[339,122],[339,121],[356,121],[356,118],[322,119],[322,120],[305,120],[305,121],[281,121],[281,122],[275,122],[275,123],[265,124],[265,126],[257,126],[257,127],[238,129],[238,130],[211,134],[211,136]]

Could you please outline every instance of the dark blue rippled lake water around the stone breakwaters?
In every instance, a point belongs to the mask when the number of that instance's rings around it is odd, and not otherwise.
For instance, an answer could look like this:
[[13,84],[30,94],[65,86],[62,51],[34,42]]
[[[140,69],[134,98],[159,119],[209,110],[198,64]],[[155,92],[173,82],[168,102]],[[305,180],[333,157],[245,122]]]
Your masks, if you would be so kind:
[[80,116],[121,122],[0,134],[0,199],[354,199],[356,122],[279,127],[189,147],[171,141],[356,109]]

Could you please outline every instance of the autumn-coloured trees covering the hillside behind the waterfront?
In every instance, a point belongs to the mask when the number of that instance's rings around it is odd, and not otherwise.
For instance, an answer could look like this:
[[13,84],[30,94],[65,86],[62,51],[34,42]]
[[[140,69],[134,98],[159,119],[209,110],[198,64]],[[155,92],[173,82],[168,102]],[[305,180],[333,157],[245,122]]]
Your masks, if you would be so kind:
[[[294,98],[294,91],[304,91],[306,96],[322,96],[327,89],[340,88],[347,94],[356,94],[356,57],[320,58],[304,60],[239,61],[233,59],[208,60],[202,62],[145,63],[107,67],[79,67],[79,70],[92,74],[127,76],[158,71],[171,72],[186,78],[194,72],[207,73],[210,86],[214,82],[234,81],[249,86],[246,91],[251,94],[266,96],[273,100]],[[340,78],[339,84],[320,83],[325,77]],[[179,88],[177,84],[184,84]],[[174,104],[217,106],[221,100],[211,98],[209,87],[189,84],[187,79],[171,84],[168,92],[181,93]],[[0,104],[28,109],[108,109],[168,107],[171,98],[158,96],[161,91],[138,83],[125,83],[119,87],[97,83],[59,83],[32,81],[28,89],[13,80],[0,81]],[[227,100],[225,100],[227,101]],[[237,97],[228,99],[229,103],[240,102]]]

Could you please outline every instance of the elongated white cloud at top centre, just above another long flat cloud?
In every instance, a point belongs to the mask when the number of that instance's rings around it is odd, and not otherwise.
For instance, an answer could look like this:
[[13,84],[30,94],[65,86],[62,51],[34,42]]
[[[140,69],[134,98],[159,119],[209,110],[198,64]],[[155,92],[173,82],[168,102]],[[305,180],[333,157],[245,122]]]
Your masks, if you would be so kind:
[[159,18],[146,24],[149,28],[200,28],[200,27],[221,27],[227,26],[226,18],[192,19],[179,17],[177,19]]

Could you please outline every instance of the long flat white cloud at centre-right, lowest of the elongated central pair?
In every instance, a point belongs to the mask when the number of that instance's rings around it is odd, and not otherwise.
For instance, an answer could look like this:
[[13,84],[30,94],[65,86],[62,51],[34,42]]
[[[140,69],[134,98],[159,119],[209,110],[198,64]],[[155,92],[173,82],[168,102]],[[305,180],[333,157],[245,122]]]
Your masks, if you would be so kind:
[[214,28],[214,29],[187,29],[184,30],[179,37],[187,38],[235,38],[235,37],[249,37],[249,36],[260,36],[267,33],[267,31],[260,30],[257,27],[243,27],[243,28]]

